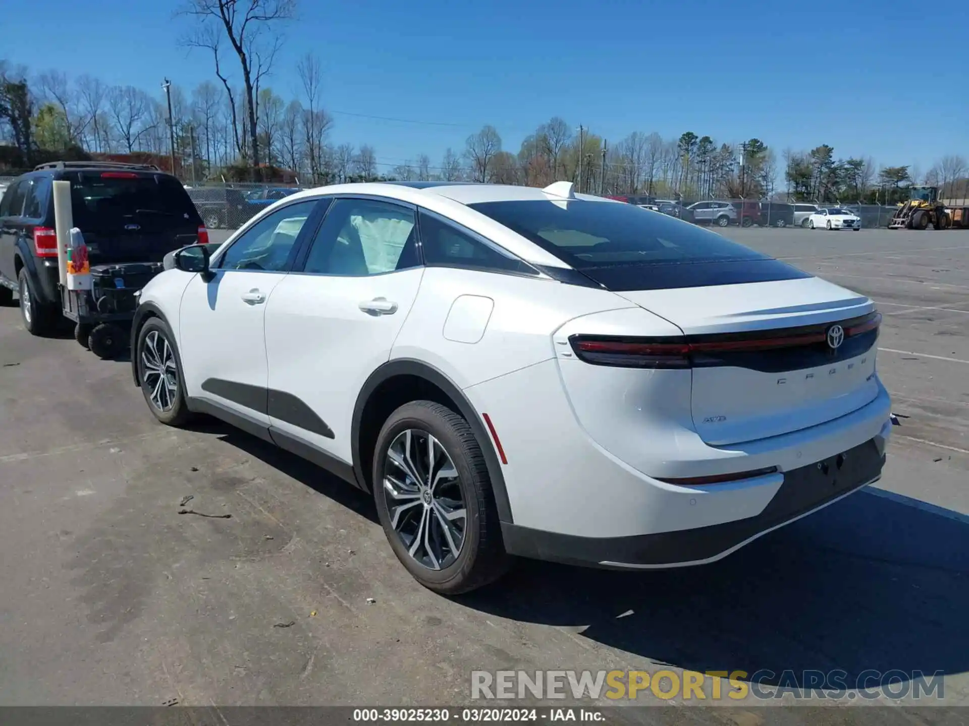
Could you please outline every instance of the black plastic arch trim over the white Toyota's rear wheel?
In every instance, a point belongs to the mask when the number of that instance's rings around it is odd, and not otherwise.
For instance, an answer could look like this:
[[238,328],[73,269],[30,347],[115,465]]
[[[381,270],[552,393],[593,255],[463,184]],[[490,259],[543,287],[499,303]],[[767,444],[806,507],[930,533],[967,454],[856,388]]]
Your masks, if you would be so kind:
[[351,428],[354,471],[359,485],[366,491],[372,491],[370,472],[373,469],[373,449],[381,427],[396,408],[411,401],[439,403],[451,408],[468,422],[485,454],[498,518],[511,523],[512,508],[505,488],[505,477],[481,414],[451,378],[423,361],[392,360],[370,374],[360,388]]

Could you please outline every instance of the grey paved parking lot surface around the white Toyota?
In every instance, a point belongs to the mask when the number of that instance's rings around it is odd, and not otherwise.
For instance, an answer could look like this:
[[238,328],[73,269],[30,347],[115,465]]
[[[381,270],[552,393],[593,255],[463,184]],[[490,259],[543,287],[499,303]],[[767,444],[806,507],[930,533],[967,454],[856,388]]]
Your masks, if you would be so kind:
[[[0,308],[0,705],[460,705],[472,670],[662,664],[943,670],[969,704],[969,233],[726,233],[878,302],[905,416],[878,489],[717,564],[522,562],[453,600],[356,490],[217,423],[156,424],[129,364]],[[179,516],[187,496],[232,518]],[[838,722],[890,722],[869,711]]]

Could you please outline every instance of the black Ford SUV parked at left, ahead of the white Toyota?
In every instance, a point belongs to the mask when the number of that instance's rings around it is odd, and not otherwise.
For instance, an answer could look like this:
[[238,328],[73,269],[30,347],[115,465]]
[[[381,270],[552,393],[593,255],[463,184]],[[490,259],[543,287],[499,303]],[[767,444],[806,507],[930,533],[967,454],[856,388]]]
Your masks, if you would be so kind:
[[71,182],[74,226],[91,265],[160,262],[208,232],[175,177],[157,166],[98,162],[42,164],[17,177],[0,201],[0,304],[16,290],[24,327],[45,335],[61,314],[51,182]]

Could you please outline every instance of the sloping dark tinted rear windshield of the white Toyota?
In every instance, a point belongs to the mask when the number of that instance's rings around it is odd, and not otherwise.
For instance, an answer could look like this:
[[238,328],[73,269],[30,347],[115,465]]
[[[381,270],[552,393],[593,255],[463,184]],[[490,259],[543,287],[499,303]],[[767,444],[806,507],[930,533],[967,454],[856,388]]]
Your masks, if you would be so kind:
[[610,289],[810,277],[715,232],[629,204],[529,199],[470,206]]

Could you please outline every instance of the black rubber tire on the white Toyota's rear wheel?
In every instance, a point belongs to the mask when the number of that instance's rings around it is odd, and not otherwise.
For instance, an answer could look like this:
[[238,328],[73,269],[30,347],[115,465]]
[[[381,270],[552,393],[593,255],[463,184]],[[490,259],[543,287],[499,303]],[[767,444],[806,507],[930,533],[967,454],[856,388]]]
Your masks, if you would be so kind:
[[[437,439],[444,453],[451,458],[453,468],[457,473],[456,479],[449,477],[447,484],[443,486],[449,487],[447,491],[452,494],[460,493],[460,503],[463,504],[465,511],[462,539],[457,546],[456,557],[453,557],[453,552],[449,547],[449,554],[446,557],[435,560],[444,565],[439,569],[422,564],[416,557],[412,557],[404,543],[404,534],[398,533],[392,525],[391,509],[388,503],[390,496],[383,484],[385,475],[390,469],[388,466],[388,451],[391,448],[391,443],[394,443],[398,436],[404,436],[404,432],[408,430],[415,432],[414,436],[425,433]],[[414,579],[425,588],[442,594],[459,594],[492,583],[508,571],[511,558],[505,553],[505,547],[502,543],[498,510],[491,491],[491,480],[485,465],[485,456],[478,439],[471,431],[471,427],[461,416],[451,408],[430,401],[413,401],[397,408],[391,413],[390,418],[387,419],[380,431],[374,449],[373,462],[373,493],[380,523],[384,527],[384,532],[391,543],[394,555],[397,556],[397,559],[407,568]],[[417,465],[414,466],[417,467]],[[427,469],[427,467],[419,467],[418,469],[416,473],[418,473],[419,478],[422,478],[423,469]],[[402,471],[397,475],[401,476],[401,479],[405,482],[410,482],[413,479]],[[406,487],[410,487],[413,492],[418,492],[419,489],[422,493],[424,492],[424,487],[421,484],[406,483]],[[419,496],[421,495],[409,495],[408,499]],[[453,500],[453,496],[450,499]],[[430,503],[412,505],[418,507],[418,509],[411,511],[419,511],[422,515],[426,511],[425,516],[431,517],[439,500],[425,497],[422,501]],[[412,535],[411,541],[420,537],[422,531],[420,528],[422,528],[424,521],[422,519],[420,524],[415,524],[413,516],[410,512],[403,514],[399,522],[401,529],[407,527],[419,528],[416,534]],[[448,520],[453,521],[451,518],[448,518]],[[435,541],[443,545],[442,527],[445,525],[444,519],[438,516],[435,520],[427,521],[432,522],[432,527],[436,528],[438,532],[438,535],[434,537]],[[426,539],[424,541],[426,542]],[[426,545],[423,544],[418,549],[427,551]],[[439,548],[438,555],[442,553],[443,549]],[[445,562],[448,563],[444,564]]]

